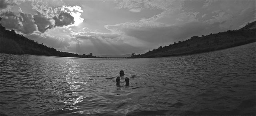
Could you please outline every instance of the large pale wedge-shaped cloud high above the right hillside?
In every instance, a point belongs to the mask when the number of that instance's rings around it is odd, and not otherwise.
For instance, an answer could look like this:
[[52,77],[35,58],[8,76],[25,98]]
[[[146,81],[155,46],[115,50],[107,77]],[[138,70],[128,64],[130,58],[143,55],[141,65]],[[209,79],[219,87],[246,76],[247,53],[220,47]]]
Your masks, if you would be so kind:
[[[194,9],[184,8],[184,2],[186,1],[118,1],[117,8],[127,8],[130,10],[134,8],[158,8],[164,11],[150,18],[142,18],[136,22],[105,25],[105,28],[113,33],[134,37],[147,43],[166,44],[166,42],[177,42],[191,36],[226,31],[227,28],[232,26],[230,23],[233,22],[232,19],[236,18],[236,20],[239,20],[241,18],[240,16],[234,17],[234,14],[242,14],[245,11],[241,12],[232,7],[234,4],[241,4],[240,2],[218,1],[218,3],[215,3],[215,1],[209,0],[202,4],[202,7]],[[212,6],[213,3],[218,7]],[[244,6],[238,7],[238,9],[243,9]],[[212,12],[216,10],[219,12]],[[252,10],[252,12],[254,11]],[[218,14],[212,15],[213,13]],[[207,17],[205,17],[206,15]]]

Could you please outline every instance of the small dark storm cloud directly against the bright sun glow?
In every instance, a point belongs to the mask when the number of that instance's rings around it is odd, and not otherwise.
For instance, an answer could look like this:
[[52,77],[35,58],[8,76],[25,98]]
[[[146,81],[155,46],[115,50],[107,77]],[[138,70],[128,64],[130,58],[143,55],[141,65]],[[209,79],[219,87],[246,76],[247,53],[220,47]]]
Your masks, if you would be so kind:
[[54,16],[52,19],[55,20],[55,26],[68,26],[70,24],[74,24],[74,17],[66,12],[60,12],[57,16]]

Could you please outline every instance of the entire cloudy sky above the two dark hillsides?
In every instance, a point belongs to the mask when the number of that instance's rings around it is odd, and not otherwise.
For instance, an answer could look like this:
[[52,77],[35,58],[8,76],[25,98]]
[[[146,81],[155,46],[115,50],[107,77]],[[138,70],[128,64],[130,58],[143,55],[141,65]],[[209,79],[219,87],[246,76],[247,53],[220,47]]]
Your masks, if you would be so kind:
[[1,24],[62,52],[144,54],[255,21],[255,0],[0,0]]

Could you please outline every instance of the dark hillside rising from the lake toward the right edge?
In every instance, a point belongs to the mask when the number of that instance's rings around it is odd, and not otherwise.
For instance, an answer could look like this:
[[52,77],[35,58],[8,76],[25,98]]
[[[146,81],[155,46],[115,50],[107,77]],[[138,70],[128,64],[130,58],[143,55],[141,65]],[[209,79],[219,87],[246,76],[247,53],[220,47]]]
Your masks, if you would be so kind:
[[160,46],[145,54],[132,54],[129,58],[154,58],[209,52],[255,42],[255,21],[239,30],[228,30],[217,34],[193,36],[185,41]]

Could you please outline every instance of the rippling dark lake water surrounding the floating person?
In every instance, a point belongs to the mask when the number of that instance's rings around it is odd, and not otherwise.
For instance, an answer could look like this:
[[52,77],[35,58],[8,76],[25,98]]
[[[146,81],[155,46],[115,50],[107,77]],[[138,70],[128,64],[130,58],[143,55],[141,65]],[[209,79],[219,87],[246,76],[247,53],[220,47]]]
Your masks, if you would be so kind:
[[255,65],[255,43],[165,58],[0,54],[0,114],[255,115]]

